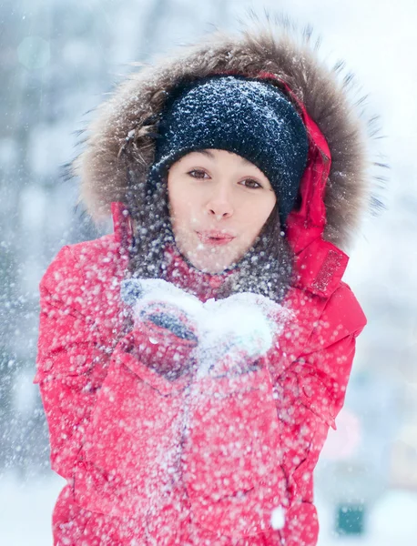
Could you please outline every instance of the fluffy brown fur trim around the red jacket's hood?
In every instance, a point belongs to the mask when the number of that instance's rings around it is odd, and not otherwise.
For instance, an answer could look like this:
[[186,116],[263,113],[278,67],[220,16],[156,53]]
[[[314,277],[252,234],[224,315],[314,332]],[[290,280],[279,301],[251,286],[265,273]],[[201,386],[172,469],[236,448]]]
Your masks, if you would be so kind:
[[112,202],[126,202],[127,168],[132,162],[145,179],[154,156],[152,134],[171,88],[184,79],[212,74],[256,77],[262,72],[290,88],[327,141],[331,171],[324,195],[324,238],[347,248],[370,204],[365,123],[348,97],[350,77],[340,82],[341,66],[330,70],[321,64],[310,34],[299,36],[289,25],[212,35],[202,45],[165,57],[118,86],[98,107],[86,147],[73,163],[81,178],[81,200],[90,214],[103,217]]

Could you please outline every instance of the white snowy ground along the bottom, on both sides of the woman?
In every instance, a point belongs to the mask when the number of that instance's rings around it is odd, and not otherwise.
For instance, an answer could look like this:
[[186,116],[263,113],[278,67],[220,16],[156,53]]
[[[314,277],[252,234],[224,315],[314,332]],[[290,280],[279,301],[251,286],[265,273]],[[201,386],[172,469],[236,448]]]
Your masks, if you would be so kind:
[[[64,480],[49,476],[21,481],[0,479],[0,544],[50,546],[51,513]],[[391,490],[370,514],[368,532],[358,539],[337,538],[332,533],[331,507],[318,502],[319,546],[415,546],[417,543],[417,493]]]

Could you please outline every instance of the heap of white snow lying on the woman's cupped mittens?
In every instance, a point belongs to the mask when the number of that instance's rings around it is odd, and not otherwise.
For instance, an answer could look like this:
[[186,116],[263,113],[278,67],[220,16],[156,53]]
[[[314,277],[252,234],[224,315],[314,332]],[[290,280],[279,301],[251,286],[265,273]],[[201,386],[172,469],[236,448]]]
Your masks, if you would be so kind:
[[248,371],[290,318],[286,308],[258,294],[238,293],[202,303],[162,279],[126,279],[121,295],[133,308],[134,321],[151,320],[180,339],[198,342],[198,377],[222,375],[216,363],[225,359],[230,370]]

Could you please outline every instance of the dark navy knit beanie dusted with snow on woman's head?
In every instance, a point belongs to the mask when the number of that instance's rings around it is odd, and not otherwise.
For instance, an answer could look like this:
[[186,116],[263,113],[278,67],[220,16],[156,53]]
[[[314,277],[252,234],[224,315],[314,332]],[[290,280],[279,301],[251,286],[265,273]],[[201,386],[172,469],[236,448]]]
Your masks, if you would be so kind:
[[158,124],[148,184],[166,177],[180,157],[210,148],[245,157],[268,177],[285,225],[309,148],[304,123],[287,96],[269,82],[244,76],[210,76],[178,87]]

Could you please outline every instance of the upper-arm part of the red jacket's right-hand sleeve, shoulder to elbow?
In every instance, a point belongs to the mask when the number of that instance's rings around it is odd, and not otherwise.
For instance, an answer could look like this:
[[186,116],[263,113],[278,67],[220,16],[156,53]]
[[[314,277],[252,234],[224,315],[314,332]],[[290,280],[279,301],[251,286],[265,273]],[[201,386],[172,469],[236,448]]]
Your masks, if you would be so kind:
[[[329,428],[344,403],[356,339],[366,318],[351,289],[342,284],[324,308],[309,342],[274,381],[279,419],[288,430],[282,466],[290,495],[312,502],[312,472]],[[294,464],[295,461],[295,464]]]

